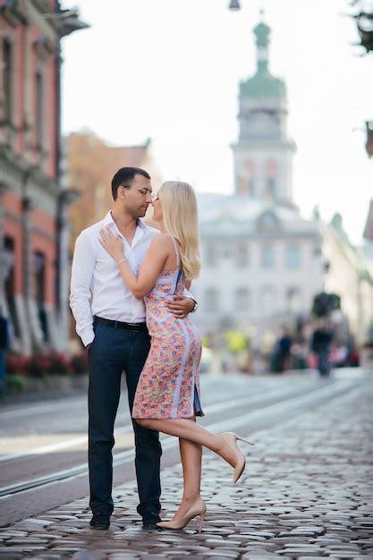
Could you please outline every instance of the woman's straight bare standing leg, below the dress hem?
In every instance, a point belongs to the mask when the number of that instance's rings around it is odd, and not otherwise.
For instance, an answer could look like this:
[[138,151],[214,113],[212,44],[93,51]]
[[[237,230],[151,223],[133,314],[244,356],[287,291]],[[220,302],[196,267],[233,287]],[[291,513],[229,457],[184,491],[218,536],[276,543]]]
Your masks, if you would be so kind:
[[[196,421],[194,417],[191,420]],[[174,513],[173,521],[178,521],[191,505],[197,502],[200,495],[202,445],[180,438],[179,447],[182,458],[183,492],[182,503]]]

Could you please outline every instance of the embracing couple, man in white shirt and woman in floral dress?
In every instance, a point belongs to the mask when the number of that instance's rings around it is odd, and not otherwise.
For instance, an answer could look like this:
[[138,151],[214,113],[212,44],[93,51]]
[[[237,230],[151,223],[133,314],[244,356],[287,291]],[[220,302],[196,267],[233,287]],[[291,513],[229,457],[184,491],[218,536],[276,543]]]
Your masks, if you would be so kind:
[[[241,437],[215,435],[196,422],[203,415],[201,342],[188,291],[200,268],[196,197],[186,182],[165,182],[154,198],[149,174],[137,167],[114,174],[112,193],[112,210],[81,232],[72,262],[70,304],[89,362],[90,525],[107,529],[114,509],[114,420],[124,372],[143,527],[182,529],[199,516],[200,530],[202,446],[233,467],[233,482],[245,457],[236,445]],[[140,220],[149,204],[159,231]],[[182,502],[169,522],[159,516],[158,432],[180,443]]]

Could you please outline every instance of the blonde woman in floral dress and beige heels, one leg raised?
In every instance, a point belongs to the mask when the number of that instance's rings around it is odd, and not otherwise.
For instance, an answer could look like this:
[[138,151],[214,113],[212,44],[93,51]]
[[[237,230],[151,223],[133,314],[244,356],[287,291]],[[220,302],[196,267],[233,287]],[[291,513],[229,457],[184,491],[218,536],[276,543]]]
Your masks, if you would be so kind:
[[199,275],[194,191],[186,182],[164,182],[153,207],[153,219],[161,233],[153,238],[138,276],[123,257],[120,237],[110,230],[102,230],[101,243],[115,259],[131,292],[144,298],[147,309],[151,346],[140,375],[132,417],[140,425],[179,437],[180,441],[182,503],[171,522],[157,525],[182,529],[199,515],[200,531],[206,514],[206,505],[200,497],[202,445],[233,467],[233,482],[242,475],[245,457],[236,445],[236,440],[242,437],[232,432],[216,436],[196,423],[196,416],[203,415],[199,400],[199,332],[189,318],[176,318],[165,308],[167,299],[189,288],[191,280]]

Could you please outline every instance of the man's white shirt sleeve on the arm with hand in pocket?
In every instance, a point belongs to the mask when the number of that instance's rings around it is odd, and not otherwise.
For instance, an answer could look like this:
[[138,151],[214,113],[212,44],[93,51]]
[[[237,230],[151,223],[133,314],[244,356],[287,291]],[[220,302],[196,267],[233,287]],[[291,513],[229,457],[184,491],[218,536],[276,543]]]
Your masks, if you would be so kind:
[[76,321],[76,332],[84,346],[95,338],[93,316],[90,307],[93,271],[96,262],[96,250],[86,232],[81,233],[75,242],[72,258],[72,281],[70,289],[70,307]]

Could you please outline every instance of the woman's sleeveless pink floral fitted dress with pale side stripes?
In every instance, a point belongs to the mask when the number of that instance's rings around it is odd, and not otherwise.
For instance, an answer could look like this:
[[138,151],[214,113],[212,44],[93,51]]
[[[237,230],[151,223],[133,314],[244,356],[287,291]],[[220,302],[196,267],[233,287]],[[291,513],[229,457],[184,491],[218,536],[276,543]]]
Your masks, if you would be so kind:
[[166,300],[182,294],[185,276],[174,242],[176,270],[162,272],[145,296],[146,320],[151,336],[150,351],[141,371],[132,417],[165,420],[203,416],[199,401],[201,341],[189,316],[176,318],[165,307]]

